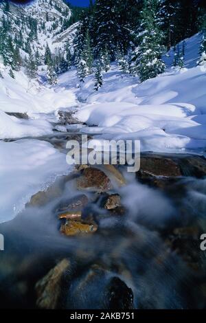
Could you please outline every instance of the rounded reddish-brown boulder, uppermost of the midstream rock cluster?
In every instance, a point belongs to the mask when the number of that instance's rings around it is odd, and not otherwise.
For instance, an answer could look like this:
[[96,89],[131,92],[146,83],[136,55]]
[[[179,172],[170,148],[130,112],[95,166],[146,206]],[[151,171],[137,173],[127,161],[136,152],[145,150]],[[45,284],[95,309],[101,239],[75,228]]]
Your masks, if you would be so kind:
[[85,168],[82,176],[77,179],[77,188],[79,190],[92,189],[98,192],[105,192],[111,189],[111,181],[106,174],[98,168]]

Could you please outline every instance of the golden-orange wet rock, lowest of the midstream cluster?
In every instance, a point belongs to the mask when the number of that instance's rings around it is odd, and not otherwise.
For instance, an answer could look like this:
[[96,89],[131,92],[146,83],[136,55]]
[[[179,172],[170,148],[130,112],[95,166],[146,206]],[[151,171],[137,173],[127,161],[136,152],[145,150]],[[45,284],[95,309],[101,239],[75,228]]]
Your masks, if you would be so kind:
[[60,232],[65,236],[80,236],[93,234],[98,230],[95,223],[84,223],[83,221],[68,220],[60,227]]

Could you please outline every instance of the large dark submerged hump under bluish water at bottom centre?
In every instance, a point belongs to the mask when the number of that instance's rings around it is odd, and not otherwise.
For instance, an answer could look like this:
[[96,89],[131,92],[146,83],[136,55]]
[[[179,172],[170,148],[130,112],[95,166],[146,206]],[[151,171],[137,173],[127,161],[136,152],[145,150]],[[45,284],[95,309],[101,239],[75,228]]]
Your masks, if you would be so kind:
[[111,271],[92,265],[74,281],[67,309],[133,309],[133,291]]

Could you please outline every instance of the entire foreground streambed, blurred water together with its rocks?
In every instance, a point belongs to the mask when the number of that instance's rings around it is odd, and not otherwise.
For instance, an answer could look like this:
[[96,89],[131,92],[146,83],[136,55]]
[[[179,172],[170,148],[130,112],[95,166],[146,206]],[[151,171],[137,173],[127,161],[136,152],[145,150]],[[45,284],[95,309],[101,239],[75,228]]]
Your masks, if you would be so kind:
[[[66,153],[71,138],[38,139]],[[143,153],[134,174],[74,168],[1,224],[0,307],[206,307],[205,176],[205,158],[183,154]]]

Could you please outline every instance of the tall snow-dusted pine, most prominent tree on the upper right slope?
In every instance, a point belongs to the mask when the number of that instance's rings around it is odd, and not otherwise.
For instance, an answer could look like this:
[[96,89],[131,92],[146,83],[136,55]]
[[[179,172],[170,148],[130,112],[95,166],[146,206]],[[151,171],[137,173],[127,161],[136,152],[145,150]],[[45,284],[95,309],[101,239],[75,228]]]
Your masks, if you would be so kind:
[[134,71],[141,82],[163,73],[163,34],[159,29],[159,0],[145,0],[141,12],[141,27],[137,35],[139,47],[136,52]]

